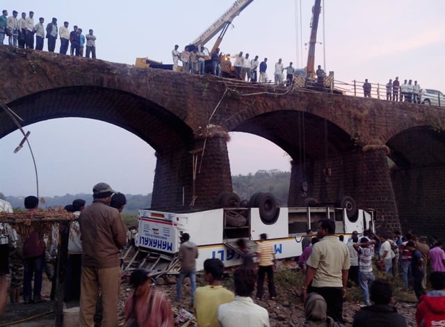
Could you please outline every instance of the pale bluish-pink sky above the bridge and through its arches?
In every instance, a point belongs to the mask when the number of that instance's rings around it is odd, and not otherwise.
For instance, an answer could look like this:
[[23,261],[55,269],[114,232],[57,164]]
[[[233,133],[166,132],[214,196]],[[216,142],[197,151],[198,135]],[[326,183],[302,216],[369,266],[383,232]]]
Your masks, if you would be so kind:
[[[316,65],[335,79],[387,83],[396,76],[416,79],[424,88],[445,91],[445,1],[443,0],[325,0],[316,46]],[[171,63],[175,44],[184,49],[234,0],[130,0],[119,1],[2,1],[13,10],[76,24],[97,37],[97,58],[134,64],[136,57]],[[268,74],[282,58],[285,65],[305,67],[313,0],[254,0],[227,31],[221,50],[248,52],[268,58]],[[301,8],[301,12],[300,12]],[[301,19],[300,19],[301,17]],[[324,22],[324,24],[323,24]],[[301,29],[300,29],[301,26]],[[324,31],[324,33],[323,33]],[[324,35],[323,35],[324,34]],[[6,44],[6,42],[5,42]],[[207,44],[211,48],[213,41]],[[60,41],[56,42],[56,52]],[[44,49],[47,49],[45,39]],[[325,53],[325,56],[323,56]],[[37,161],[40,196],[90,193],[97,182],[108,182],[123,193],[152,191],[154,150],[120,127],[97,120],[62,118],[24,128]],[[97,141],[97,133],[107,135]],[[232,175],[259,169],[290,170],[290,157],[263,138],[234,133],[228,144]],[[36,193],[29,150],[13,150],[22,140],[19,131],[0,139],[0,192],[7,196]],[[94,140],[94,141],[93,141]]]

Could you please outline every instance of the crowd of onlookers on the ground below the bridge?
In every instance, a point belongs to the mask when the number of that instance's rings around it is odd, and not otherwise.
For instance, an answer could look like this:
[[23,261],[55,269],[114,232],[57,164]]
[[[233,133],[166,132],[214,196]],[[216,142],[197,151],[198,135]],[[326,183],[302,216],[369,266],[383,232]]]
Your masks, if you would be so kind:
[[[10,301],[19,301],[23,289],[24,303],[44,301],[41,295],[42,273],[47,255],[58,248],[56,240],[68,238],[68,262],[65,273],[64,301],[80,301],[80,325],[92,326],[97,303],[102,305],[102,326],[118,326],[118,301],[120,297],[121,260],[120,250],[131,241],[131,234],[120,217],[126,204],[122,193],[102,182],[93,186],[93,202],[76,199],[65,206],[78,221],[70,225],[60,224],[60,237],[47,225],[30,222],[30,232],[20,237],[15,230],[1,224],[3,234],[13,246],[7,267],[3,260],[0,276],[5,270],[11,273]],[[38,198],[26,197],[27,213],[38,210]],[[6,226],[6,227],[5,227]],[[51,245],[45,243],[44,234],[53,234]],[[127,237],[127,234],[130,237]],[[181,302],[184,278],[191,283],[190,305],[195,312],[198,326],[269,326],[268,310],[254,303],[252,298],[264,298],[264,281],[267,275],[268,298],[275,300],[274,271],[277,260],[272,244],[266,234],[260,235],[254,251],[245,246],[243,239],[237,242],[243,264],[234,271],[234,293],[223,287],[221,280],[225,267],[217,258],[204,261],[203,277],[207,286],[196,287],[197,244],[188,233],[181,233],[178,258],[181,270],[177,280],[176,301]],[[3,255],[3,246],[0,248]],[[18,254],[20,253],[20,254]],[[253,258],[256,257],[257,268]],[[3,258],[3,256],[2,256]],[[7,260],[6,260],[7,262]],[[387,278],[375,279],[373,262]],[[416,237],[407,232],[403,237],[395,230],[393,234],[363,234],[353,232],[348,241],[335,235],[335,223],[330,219],[318,222],[314,237],[307,231],[302,240],[302,255],[298,260],[305,276],[301,296],[305,299],[305,326],[342,326],[343,301],[348,287],[355,283],[362,289],[363,305],[354,317],[353,326],[407,326],[405,317],[391,305],[391,280],[400,273],[405,292],[418,298],[416,311],[418,326],[439,326],[445,319],[445,252],[441,241]],[[432,291],[426,292],[427,278]],[[32,280],[34,280],[32,285]],[[124,326],[173,326],[172,307],[168,297],[156,289],[147,271],[137,269],[131,273],[129,284],[133,293],[124,307]],[[99,293],[102,294],[99,300]],[[54,293],[51,294],[54,296]],[[435,325],[436,324],[436,325]]]

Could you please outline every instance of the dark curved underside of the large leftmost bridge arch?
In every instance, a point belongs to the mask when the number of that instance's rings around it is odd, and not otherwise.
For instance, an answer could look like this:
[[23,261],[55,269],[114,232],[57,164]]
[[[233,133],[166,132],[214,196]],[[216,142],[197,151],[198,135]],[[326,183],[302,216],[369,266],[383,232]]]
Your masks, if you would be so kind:
[[[24,119],[23,126],[52,118],[91,118],[109,122],[142,138],[162,152],[175,143],[185,146],[191,128],[159,104],[111,88],[71,86],[26,95],[8,104]],[[0,138],[17,129],[13,120],[2,120]],[[100,137],[100,135],[98,135]]]

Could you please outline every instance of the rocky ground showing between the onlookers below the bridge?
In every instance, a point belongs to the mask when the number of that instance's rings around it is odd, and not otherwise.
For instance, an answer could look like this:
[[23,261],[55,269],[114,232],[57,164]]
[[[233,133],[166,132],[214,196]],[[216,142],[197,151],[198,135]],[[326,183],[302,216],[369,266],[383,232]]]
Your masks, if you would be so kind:
[[[274,301],[268,299],[268,294],[264,296],[264,300],[255,302],[269,312],[270,326],[302,326],[305,321],[305,313],[303,303],[300,299],[300,285],[302,282],[301,274],[293,269],[292,262],[285,262],[282,264],[275,274],[275,280],[277,285],[277,298]],[[204,285],[202,278],[198,277],[198,285]],[[186,318],[181,319],[178,316],[179,312],[193,313],[193,308],[190,307],[190,286],[185,280],[183,288],[183,301],[178,303],[175,301],[175,278],[165,278],[159,280],[159,288],[163,289],[163,292],[168,294],[170,301],[172,302],[172,308],[177,316],[176,326],[183,326],[186,323]],[[414,314],[416,311],[415,298],[412,293],[401,292],[398,288],[398,280],[394,281],[394,289],[396,290],[395,300],[396,308],[398,312],[406,317],[408,326],[416,326]],[[232,276],[230,273],[224,281],[227,288],[233,289]],[[43,296],[49,297],[49,282],[44,282]],[[267,288],[267,287],[266,287]],[[122,284],[120,312],[122,312],[123,305],[127,297],[131,294],[126,283]],[[358,301],[358,302],[357,302]],[[352,326],[353,316],[357,310],[360,309],[359,301],[361,301],[361,294],[358,287],[351,287],[348,289],[346,296],[346,303],[343,309],[343,315],[346,320],[346,326]],[[70,303],[70,307],[76,306],[78,303]],[[23,303],[10,304],[8,308],[0,317],[0,327],[2,326],[35,326],[35,327],[48,327],[54,326],[54,302],[47,301],[44,303],[24,305]],[[183,310],[181,310],[183,309]],[[31,320],[29,317],[34,317]],[[182,321],[179,321],[182,320]],[[185,320],[185,321],[184,321]],[[193,326],[189,324],[188,326]]]

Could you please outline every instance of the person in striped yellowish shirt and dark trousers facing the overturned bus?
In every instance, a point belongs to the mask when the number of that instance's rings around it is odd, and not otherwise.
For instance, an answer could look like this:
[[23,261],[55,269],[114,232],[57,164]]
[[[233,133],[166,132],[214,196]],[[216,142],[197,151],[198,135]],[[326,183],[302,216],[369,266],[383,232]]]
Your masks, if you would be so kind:
[[273,282],[273,268],[277,263],[275,259],[275,250],[272,244],[267,240],[267,234],[259,235],[259,244],[257,246],[257,262],[258,262],[258,280],[257,280],[257,300],[263,297],[263,283],[264,276],[267,273],[267,283],[269,289],[269,296],[271,300],[275,299],[277,292],[275,291],[275,284]]

